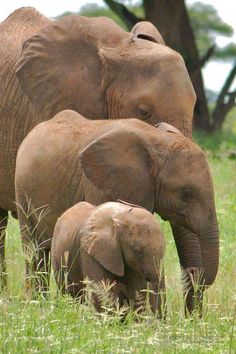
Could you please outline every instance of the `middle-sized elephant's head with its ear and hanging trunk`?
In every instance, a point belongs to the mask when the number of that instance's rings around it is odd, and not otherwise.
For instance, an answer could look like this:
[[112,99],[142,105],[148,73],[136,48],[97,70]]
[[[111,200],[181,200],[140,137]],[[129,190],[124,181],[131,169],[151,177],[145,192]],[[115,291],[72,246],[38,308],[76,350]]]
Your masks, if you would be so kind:
[[169,220],[182,267],[198,268],[201,285],[210,285],[218,270],[219,234],[209,166],[192,140],[164,128],[121,121],[84,149],[82,168],[108,200],[126,200]]

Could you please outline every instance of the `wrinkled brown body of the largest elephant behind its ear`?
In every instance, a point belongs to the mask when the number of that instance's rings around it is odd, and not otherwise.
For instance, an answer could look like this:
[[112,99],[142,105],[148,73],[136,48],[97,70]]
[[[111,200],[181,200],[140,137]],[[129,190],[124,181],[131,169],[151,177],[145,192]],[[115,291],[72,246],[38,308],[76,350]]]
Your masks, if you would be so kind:
[[17,150],[39,122],[34,106],[15,75],[22,44],[51,20],[34,8],[14,11],[0,24],[0,208],[15,211],[14,175]]

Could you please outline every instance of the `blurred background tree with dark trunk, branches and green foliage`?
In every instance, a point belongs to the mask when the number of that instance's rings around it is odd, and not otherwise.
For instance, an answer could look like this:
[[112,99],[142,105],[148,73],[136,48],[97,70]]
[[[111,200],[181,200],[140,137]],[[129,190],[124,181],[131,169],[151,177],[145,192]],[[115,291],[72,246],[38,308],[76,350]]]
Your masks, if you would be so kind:
[[[232,90],[236,76],[236,45],[230,43],[221,48],[216,45],[217,36],[230,37],[233,34],[232,27],[222,21],[216,9],[201,2],[186,6],[184,0],[143,0],[135,4],[125,0],[104,2],[108,7],[88,4],[79,13],[110,17],[128,30],[138,21],[152,22],[166,44],[184,57],[197,94],[194,128],[204,132],[221,130],[228,112],[236,105],[236,90]],[[204,88],[201,70],[210,60],[232,63],[218,94]],[[212,101],[213,108],[209,104]]]

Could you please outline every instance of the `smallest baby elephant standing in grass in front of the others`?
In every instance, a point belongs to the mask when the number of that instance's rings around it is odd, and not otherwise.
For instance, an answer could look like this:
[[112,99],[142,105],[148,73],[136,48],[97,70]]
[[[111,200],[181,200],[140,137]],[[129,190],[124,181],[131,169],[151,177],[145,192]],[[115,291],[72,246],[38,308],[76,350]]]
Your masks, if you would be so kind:
[[[80,202],[57,221],[51,248],[56,281],[63,292],[82,295],[83,280],[111,282],[112,298],[138,308],[148,282],[151,309],[162,317],[165,281],[162,268],[165,241],[155,217],[125,202],[93,206]],[[101,304],[94,296],[94,305]]]

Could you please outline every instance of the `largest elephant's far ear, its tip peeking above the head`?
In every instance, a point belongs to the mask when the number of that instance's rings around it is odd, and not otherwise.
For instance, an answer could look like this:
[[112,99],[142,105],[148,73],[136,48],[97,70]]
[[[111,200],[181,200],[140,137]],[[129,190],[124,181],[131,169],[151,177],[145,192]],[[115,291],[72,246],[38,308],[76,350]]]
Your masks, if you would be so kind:
[[148,21],[138,22],[132,28],[131,32],[134,34],[134,38],[141,38],[147,41],[151,41],[163,45],[165,44],[162,35],[151,22]]

